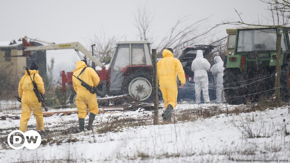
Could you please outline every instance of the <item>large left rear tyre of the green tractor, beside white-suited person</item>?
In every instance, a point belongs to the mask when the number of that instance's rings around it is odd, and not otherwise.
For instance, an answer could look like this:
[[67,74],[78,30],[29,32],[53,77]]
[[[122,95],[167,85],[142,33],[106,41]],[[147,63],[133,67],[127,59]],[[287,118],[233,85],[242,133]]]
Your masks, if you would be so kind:
[[242,73],[237,68],[224,70],[223,85],[226,102],[232,105],[246,104],[244,90],[241,87],[243,81]]

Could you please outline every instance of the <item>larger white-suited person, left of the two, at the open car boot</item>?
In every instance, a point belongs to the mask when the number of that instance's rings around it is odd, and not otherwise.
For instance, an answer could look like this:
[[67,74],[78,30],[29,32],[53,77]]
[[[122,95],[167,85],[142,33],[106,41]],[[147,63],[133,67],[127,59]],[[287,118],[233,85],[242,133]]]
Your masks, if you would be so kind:
[[207,71],[209,71],[210,63],[203,58],[201,50],[197,51],[196,58],[192,61],[191,70],[194,72],[195,81],[195,103],[201,103],[201,89],[205,103],[209,102],[209,79]]

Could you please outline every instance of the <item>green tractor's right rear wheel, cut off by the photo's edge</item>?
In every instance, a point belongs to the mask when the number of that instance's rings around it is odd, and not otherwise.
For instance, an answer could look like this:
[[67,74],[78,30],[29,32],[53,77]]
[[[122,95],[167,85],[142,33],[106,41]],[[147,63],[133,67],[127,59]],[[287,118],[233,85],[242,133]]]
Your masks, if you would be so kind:
[[281,66],[280,86],[281,100],[288,101],[290,98],[290,57],[287,57],[286,64]]

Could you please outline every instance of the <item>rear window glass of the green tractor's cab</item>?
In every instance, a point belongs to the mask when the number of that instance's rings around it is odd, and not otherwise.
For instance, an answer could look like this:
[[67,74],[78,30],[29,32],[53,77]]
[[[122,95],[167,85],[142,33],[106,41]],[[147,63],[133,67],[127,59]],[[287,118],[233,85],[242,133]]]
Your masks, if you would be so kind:
[[[286,51],[286,39],[283,29],[281,47]],[[240,30],[238,33],[237,52],[276,51],[276,29]]]

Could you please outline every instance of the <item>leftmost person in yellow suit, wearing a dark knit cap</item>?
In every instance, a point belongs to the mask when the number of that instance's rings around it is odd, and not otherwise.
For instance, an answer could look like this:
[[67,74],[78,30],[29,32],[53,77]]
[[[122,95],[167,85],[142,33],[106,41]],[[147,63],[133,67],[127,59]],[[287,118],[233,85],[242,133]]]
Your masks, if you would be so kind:
[[[42,78],[38,74],[38,65],[32,62],[30,66],[31,79],[35,81],[37,89],[41,94],[44,94],[44,84]],[[20,79],[18,85],[19,98],[21,98],[21,119],[19,130],[22,132],[27,131],[27,122],[30,119],[31,111],[33,112],[36,119],[36,129],[44,130],[43,115],[41,111],[41,103],[38,101],[34,91],[33,84],[27,71],[25,75]]]

